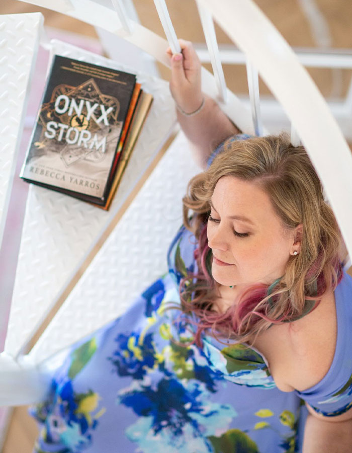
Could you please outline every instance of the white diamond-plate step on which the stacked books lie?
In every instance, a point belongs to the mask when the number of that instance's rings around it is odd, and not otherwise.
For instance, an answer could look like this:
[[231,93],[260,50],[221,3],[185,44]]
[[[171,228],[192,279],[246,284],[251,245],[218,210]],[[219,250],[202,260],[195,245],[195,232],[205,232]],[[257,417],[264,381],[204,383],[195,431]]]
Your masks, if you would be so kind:
[[[135,72],[74,46],[52,41],[55,53]],[[110,212],[71,197],[32,186],[24,220],[19,263],[5,351],[17,355],[40,325],[65,282],[114,212],[144,174],[175,123],[168,83],[136,72],[142,88],[154,96]]]

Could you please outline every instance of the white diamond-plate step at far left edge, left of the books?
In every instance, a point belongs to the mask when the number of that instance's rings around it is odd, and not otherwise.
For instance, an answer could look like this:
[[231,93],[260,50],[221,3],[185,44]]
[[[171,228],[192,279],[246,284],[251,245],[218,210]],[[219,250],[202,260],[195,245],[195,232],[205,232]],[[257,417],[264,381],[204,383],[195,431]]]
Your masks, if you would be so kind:
[[21,142],[43,16],[0,16],[0,245]]

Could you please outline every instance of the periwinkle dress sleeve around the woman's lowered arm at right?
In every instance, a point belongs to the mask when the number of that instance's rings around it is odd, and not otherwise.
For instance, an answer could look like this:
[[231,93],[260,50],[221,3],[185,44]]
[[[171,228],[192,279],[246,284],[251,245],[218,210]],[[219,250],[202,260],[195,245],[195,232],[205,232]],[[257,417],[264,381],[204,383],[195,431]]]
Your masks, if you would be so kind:
[[352,407],[352,278],[347,274],[335,289],[335,306],[337,339],[331,367],[318,384],[296,391],[326,417],[343,414]]

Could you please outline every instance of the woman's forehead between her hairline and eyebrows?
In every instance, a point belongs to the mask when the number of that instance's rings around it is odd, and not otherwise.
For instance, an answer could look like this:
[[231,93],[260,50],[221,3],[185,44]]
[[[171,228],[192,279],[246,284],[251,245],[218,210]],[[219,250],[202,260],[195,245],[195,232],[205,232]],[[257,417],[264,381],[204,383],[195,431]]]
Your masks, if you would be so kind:
[[258,185],[233,176],[223,176],[216,183],[211,204],[223,216],[245,216],[253,224],[267,224],[280,219],[269,195]]

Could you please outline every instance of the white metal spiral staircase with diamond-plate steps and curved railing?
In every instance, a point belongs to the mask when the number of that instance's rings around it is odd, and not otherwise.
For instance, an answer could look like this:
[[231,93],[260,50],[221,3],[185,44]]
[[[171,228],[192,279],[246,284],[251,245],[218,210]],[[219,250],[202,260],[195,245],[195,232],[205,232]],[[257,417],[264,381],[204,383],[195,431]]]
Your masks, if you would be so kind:
[[[179,50],[163,0],[154,3],[167,40],[131,20],[122,0],[28,3],[100,27],[165,65],[166,47]],[[350,150],[298,56],[252,0],[197,0],[197,5],[214,72],[213,76],[203,68],[204,92],[218,100],[240,129],[260,134],[265,132],[260,118],[260,74],[291,120],[293,142],[301,140],[306,146],[352,256]],[[245,56],[251,110],[226,88],[213,19]],[[160,149],[175,131],[167,82],[124,62],[61,41],[48,42],[40,13],[0,16],[0,30],[4,37],[0,61],[7,67],[1,76],[5,90],[0,97],[4,105],[0,113],[1,236],[38,46],[45,46],[51,55],[135,72],[142,87],[154,96],[110,212],[30,187],[5,350],[0,354],[0,406],[13,406],[40,401],[55,354],[119,316],[145,285],[165,271],[167,244],[182,222],[181,197],[199,169],[192,163],[182,133],[160,157]],[[175,199],[180,203],[175,205]],[[53,308],[56,315],[34,342]]]

